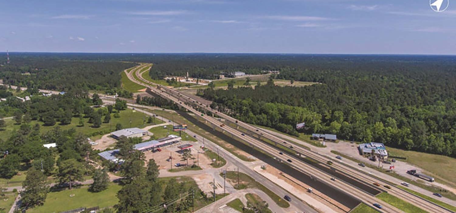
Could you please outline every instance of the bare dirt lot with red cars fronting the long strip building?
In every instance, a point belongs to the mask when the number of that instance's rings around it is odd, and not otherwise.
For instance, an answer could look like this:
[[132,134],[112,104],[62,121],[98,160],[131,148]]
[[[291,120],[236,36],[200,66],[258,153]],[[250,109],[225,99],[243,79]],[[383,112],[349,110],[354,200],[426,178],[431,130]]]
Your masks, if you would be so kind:
[[[155,159],[155,162],[157,163],[157,165],[159,166],[159,169],[171,169],[171,161],[166,161],[168,158],[170,158],[170,156],[172,157],[172,164],[173,164],[173,168],[175,168],[174,164],[176,163],[181,163],[181,164],[187,164],[187,161],[182,161],[181,160],[181,154],[177,151],[179,151],[180,149],[177,148],[178,145],[183,145],[183,144],[194,144],[192,142],[188,142],[188,141],[181,141],[179,143],[176,143],[176,144],[173,144],[173,145],[169,145],[169,146],[165,146],[165,147],[161,147],[161,151],[155,151],[155,153],[153,153],[152,151],[146,151],[144,154],[145,154],[145,157],[146,157],[146,161],[149,161],[149,159]],[[197,151],[200,151],[200,154],[198,155]],[[195,147],[193,146],[192,147],[192,156],[195,158],[194,160],[188,160],[188,164],[189,165],[192,165],[193,162],[197,162],[197,158],[199,156],[199,166],[202,168],[202,169],[205,169],[205,168],[211,168],[212,166],[210,165],[211,164],[211,160],[208,159],[206,156],[204,156],[204,154],[201,153],[202,150],[201,148],[199,147]]]

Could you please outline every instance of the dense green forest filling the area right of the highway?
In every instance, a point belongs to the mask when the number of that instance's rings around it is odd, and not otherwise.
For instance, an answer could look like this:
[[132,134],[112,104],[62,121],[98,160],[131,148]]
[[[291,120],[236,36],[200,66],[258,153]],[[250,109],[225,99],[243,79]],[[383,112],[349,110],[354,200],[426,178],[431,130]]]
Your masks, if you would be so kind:
[[292,135],[296,123],[306,122],[306,133],[456,156],[455,57],[362,58],[283,68],[276,76],[319,82],[312,86],[270,80],[255,88],[207,88],[203,96],[238,119]]

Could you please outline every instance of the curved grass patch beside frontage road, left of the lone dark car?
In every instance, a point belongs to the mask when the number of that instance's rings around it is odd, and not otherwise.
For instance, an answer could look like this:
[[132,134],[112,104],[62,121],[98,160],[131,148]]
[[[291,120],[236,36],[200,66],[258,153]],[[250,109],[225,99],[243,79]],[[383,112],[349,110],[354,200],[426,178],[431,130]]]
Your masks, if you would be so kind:
[[[220,173],[220,176],[223,177],[223,173]],[[238,172],[236,171],[227,171],[226,178],[229,182],[233,185],[235,189],[244,189],[244,188],[258,188],[259,190],[266,193],[277,205],[282,208],[290,207],[290,204],[286,202],[284,199],[279,197],[277,194],[269,190],[268,188],[264,187],[261,183],[256,182],[252,177],[239,172],[239,185],[237,184],[238,180]]]

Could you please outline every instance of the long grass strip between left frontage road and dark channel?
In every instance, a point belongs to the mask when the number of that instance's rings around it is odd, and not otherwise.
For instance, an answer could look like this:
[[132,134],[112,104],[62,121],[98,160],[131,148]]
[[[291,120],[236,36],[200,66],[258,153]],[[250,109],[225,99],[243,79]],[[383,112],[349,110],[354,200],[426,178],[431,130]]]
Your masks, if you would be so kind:
[[229,151],[231,154],[233,154],[234,156],[238,157],[239,159],[243,160],[243,161],[254,161],[253,159],[247,157],[247,156],[244,156],[244,155],[241,155],[239,154],[237,151],[239,150],[237,147],[234,147],[232,145],[230,145],[228,142],[224,141],[224,140],[221,140],[220,138],[210,134],[209,132],[201,129],[200,127],[198,127],[197,125],[191,123],[190,121],[188,121],[186,118],[180,116],[179,114],[177,113],[171,113],[171,112],[166,112],[166,111],[163,111],[163,110],[148,110],[146,109],[147,111],[149,112],[152,112],[154,114],[157,114],[159,116],[162,116],[166,119],[173,119],[174,122],[176,122],[177,124],[187,124],[187,128],[198,134],[198,135],[201,135],[202,137],[204,138],[207,138],[209,140],[211,140],[212,142],[216,143],[217,145],[223,147],[223,149]]

